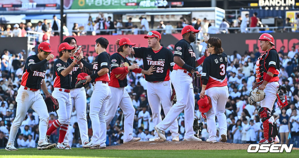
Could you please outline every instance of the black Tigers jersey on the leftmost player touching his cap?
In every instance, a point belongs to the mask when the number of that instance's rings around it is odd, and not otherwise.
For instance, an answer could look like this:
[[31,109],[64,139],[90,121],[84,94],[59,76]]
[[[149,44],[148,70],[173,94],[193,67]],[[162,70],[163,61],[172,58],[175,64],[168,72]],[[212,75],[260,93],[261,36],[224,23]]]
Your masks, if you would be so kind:
[[[40,67],[36,71],[31,71],[30,66],[32,64],[38,63],[41,60],[37,57],[37,55],[31,55],[27,58],[25,67],[23,70],[22,82],[21,85],[33,88],[33,89],[41,89],[42,81],[45,78],[47,63],[45,63],[42,67]],[[40,83],[40,84],[39,84]]]

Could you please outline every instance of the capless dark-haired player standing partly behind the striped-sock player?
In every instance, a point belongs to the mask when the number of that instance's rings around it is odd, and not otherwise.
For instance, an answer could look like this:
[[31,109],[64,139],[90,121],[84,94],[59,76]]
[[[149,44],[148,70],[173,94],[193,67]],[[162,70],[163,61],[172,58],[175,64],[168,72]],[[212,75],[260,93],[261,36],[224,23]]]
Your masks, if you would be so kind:
[[[74,37],[67,37],[62,42],[67,42],[70,46],[75,47],[75,49],[72,50],[71,57],[68,58],[68,62],[72,63],[74,59],[74,51],[77,49],[77,41]],[[72,69],[72,82],[71,82],[71,100],[72,100],[72,108],[75,107],[77,111],[77,119],[78,119],[78,126],[80,130],[80,138],[82,141],[82,145],[89,143],[88,138],[88,128],[87,128],[87,120],[86,120],[86,92],[84,87],[81,88],[75,88],[76,82],[77,82],[77,76],[81,72],[81,69],[83,67],[83,63],[80,63],[79,65],[76,64],[74,68]],[[63,144],[67,147],[68,145],[68,134],[65,135]]]

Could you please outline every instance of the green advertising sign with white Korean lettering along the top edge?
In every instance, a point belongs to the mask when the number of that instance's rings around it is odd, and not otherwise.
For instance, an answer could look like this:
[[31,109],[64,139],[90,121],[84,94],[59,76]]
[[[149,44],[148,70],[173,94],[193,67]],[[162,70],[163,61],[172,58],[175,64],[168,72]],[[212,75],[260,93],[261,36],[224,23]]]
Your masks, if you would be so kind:
[[71,9],[157,8],[166,0],[74,0]]

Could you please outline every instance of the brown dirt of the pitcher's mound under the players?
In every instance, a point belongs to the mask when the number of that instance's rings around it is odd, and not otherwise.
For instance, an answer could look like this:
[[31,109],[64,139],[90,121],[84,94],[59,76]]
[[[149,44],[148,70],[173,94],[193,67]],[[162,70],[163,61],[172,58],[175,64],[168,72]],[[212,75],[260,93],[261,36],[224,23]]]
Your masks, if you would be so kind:
[[247,150],[249,144],[233,143],[209,143],[196,141],[152,141],[152,142],[129,142],[121,145],[109,146],[106,149],[118,150]]

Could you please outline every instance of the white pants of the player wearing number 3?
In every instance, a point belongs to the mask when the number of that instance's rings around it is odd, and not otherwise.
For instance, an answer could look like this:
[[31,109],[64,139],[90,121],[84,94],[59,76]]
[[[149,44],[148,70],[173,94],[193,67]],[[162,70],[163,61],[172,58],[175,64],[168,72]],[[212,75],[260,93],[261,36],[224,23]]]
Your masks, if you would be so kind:
[[228,86],[223,87],[211,87],[205,90],[205,95],[211,98],[212,108],[207,112],[207,129],[209,132],[210,141],[216,140],[216,121],[219,122],[220,135],[227,135],[227,122],[225,116],[225,105],[228,99]]

